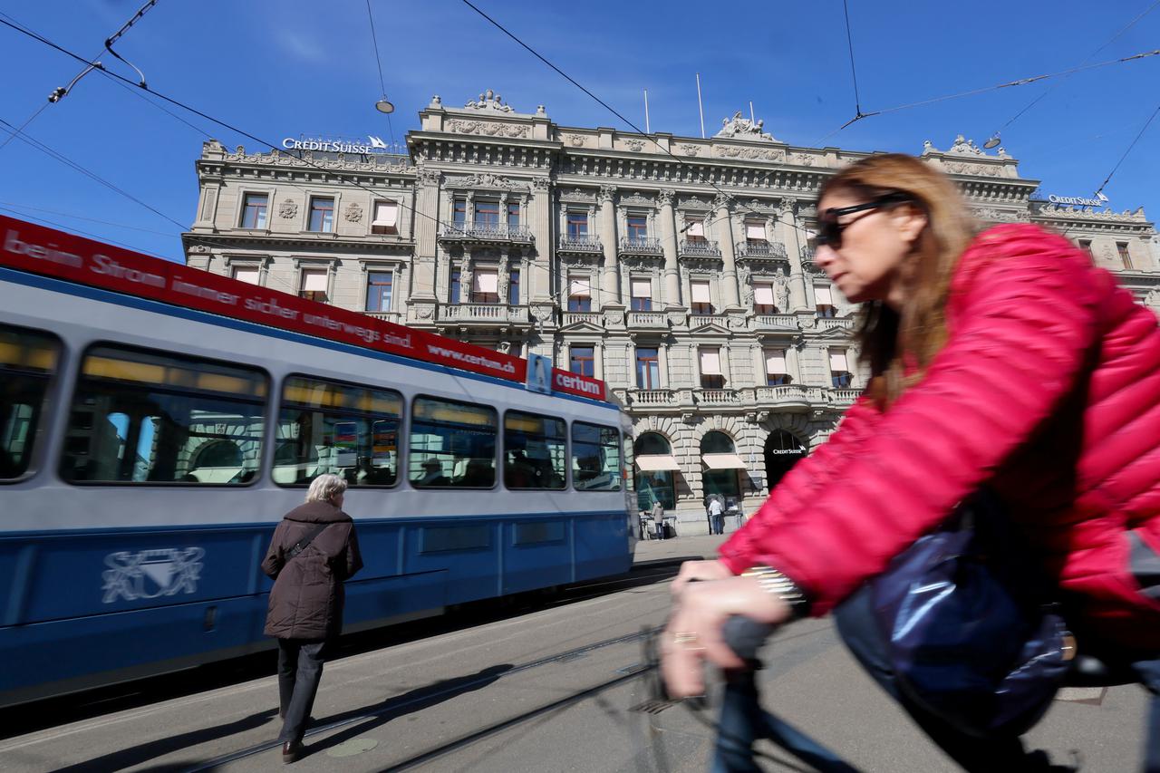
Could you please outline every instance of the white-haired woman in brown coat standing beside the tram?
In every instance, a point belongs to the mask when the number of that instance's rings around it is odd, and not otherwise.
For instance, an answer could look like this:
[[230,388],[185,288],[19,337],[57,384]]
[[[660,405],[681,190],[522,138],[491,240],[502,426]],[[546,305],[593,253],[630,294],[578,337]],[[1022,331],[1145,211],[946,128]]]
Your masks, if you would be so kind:
[[306,503],[274,529],[262,561],[262,571],[275,578],[266,635],[278,640],[283,763],[302,753],[326,646],[342,630],[342,583],[362,569],[354,521],[342,512],[346,491],[346,481],[336,475],[314,478]]

